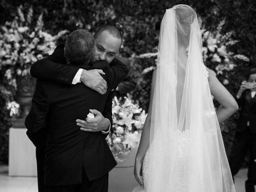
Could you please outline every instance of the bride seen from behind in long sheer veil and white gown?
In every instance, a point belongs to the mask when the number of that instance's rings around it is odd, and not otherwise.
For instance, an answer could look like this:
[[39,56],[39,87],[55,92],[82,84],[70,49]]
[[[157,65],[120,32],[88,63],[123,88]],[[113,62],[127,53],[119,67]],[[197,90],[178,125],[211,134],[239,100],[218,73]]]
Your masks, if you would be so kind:
[[[196,12],[166,10],[134,192],[235,192],[219,123],[238,105],[202,60]],[[222,105],[214,109],[212,96]],[[140,170],[142,168],[142,174]]]

